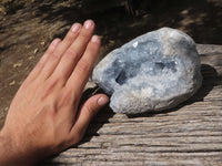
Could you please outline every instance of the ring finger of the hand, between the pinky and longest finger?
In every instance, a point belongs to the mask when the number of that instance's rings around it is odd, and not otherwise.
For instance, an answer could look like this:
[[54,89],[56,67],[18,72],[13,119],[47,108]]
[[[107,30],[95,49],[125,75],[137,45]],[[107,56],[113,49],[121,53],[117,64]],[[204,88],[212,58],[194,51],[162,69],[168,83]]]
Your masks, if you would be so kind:
[[63,53],[78,38],[80,30],[81,30],[81,24],[74,23],[70,29],[70,31],[67,33],[61,44],[50,54],[50,58],[48,59],[47,64],[44,65],[41,72],[43,79],[48,79],[53,73]]

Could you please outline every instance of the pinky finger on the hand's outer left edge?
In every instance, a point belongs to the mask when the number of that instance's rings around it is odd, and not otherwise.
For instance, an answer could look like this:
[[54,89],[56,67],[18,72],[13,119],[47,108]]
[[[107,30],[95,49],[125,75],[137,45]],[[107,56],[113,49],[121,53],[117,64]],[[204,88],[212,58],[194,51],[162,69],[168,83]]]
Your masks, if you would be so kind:
[[40,59],[40,61],[37,63],[34,69],[31,71],[29,76],[27,77],[27,81],[33,81],[44,66],[46,62],[48,61],[50,54],[57,49],[57,46],[60,44],[61,40],[60,39],[54,39],[49,48],[47,49],[47,52],[43,54],[43,56]]

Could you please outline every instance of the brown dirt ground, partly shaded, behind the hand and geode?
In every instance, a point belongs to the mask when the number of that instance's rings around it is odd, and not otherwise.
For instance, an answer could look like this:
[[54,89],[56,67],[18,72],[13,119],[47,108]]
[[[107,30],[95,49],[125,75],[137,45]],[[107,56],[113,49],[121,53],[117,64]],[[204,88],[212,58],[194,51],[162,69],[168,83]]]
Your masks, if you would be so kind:
[[[138,4],[95,0],[0,1],[0,128],[9,104],[50,41],[63,38],[73,22],[93,19],[102,38],[100,58],[124,42],[162,27],[180,29],[196,43],[222,44],[221,0],[157,0]],[[143,6],[144,4],[144,6]]]

